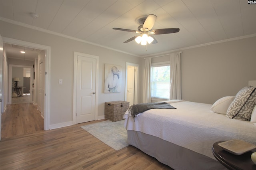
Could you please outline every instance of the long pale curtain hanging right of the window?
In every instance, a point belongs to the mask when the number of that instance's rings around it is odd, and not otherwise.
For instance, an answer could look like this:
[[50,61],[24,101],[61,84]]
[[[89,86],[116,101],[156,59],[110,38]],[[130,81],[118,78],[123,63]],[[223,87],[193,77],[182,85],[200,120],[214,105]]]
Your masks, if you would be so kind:
[[181,99],[180,52],[170,55],[170,99]]

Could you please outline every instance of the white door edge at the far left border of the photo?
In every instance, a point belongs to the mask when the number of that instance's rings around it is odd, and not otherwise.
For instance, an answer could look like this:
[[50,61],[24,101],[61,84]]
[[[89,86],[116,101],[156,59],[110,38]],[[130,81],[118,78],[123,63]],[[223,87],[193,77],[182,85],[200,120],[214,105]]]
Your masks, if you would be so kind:
[[2,75],[3,75],[3,51],[4,51],[4,42],[0,35],[0,140],[1,140],[1,127],[2,127]]

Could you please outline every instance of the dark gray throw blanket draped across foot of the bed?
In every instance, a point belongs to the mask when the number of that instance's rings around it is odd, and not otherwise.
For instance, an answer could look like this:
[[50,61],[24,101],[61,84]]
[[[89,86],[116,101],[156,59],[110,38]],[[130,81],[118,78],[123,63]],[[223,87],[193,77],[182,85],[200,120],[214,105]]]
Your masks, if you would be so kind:
[[176,109],[176,108],[166,102],[140,103],[137,105],[130,106],[128,111],[132,115],[132,117],[135,119],[136,115],[144,111],[147,111],[149,109]]

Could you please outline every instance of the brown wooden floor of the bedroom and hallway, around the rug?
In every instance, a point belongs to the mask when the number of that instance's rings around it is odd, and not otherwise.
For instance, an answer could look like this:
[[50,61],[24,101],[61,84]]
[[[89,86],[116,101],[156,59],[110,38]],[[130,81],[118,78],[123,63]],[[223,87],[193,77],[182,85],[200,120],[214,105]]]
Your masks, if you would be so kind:
[[116,151],[80,128],[100,121],[44,131],[39,118],[32,104],[8,105],[2,115],[1,170],[171,170],[133,146]]

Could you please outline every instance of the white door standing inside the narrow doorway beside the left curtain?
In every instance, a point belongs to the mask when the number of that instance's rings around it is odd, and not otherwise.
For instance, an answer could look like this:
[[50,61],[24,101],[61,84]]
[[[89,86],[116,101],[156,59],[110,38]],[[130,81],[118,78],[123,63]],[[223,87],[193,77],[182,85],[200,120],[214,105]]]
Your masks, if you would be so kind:
[[134,105],[135,67],[128,66],[127,70],[127,101]]

